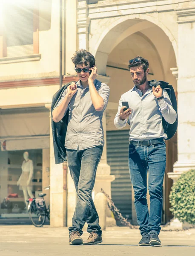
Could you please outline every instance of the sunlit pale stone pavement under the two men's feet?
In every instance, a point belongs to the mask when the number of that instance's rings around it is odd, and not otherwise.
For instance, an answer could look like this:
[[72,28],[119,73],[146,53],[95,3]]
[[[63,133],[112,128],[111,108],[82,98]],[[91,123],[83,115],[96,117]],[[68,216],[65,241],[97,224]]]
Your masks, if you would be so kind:
[[195,256],[195,229],[162,231],[160,247],[138,247],[140,238],[139,230],[109,227],[102,244],[73,246],[67,227],[0,225],[0,256]]

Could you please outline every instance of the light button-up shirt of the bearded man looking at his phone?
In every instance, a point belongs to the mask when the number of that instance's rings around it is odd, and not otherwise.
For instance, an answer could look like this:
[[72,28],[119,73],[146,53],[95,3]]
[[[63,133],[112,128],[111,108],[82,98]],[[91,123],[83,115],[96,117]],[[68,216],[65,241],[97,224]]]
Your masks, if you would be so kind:
[[170,98],[163,90],[164,99],[158,101],[152,93],[152,87],[142,96],[141,90],[135,86],[124,93],[119,101],[118,113],[115,116],[115,126],[121,129],[126,126],[127,120],[120,120],[118,115],[122,102],[128,102],[132,113],[129,116],[129,140],[153,140],[167,138],[163,131],[162,116],[166,122],[172,124],[177,118],[177,113],[172,107]]

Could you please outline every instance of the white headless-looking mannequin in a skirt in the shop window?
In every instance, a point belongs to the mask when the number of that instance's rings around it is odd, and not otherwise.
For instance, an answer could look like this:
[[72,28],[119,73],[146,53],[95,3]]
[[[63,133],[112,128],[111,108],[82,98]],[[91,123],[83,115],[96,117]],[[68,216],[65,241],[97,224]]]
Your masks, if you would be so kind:
[[24,161],[21,167],[22,174],[17,181],[17,186],[20,186],[19,189],[23,190],[24,201],[27,209],[28,203],[26,200],[28,200],[29,197],[34,198],[34,195],[32,194],[33,162],[29,159],[29,152],[24,152],[23,157]]

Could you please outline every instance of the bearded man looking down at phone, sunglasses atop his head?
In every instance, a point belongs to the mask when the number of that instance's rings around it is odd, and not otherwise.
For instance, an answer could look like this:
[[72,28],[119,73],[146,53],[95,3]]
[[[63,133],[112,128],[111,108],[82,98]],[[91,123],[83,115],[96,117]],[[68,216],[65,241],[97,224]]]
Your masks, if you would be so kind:
[[[126,126],[129,117],[129,171],[135,193],[135,210],[142,239],[138,245],[161,244],[158,235],[161,230],[163,207],[163,177],[166,167],[167,135],[163,131],[162,117],[172,124],[177,113],[165,90],[152,86],[148,81],[148,61],[135,57],[129,61],[129,70],[134,87],[124,93],[119,101],[115,126]],[[129,108],[123,111],[122,102]],[[124,103],[123,103],[124,105]],[[147,206],[147,173],[150,195],[150,212]]]

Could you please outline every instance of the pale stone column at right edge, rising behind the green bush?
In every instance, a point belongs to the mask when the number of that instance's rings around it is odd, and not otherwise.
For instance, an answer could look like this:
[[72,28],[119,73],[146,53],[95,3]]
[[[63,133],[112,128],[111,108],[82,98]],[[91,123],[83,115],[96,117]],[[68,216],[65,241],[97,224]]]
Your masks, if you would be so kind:
[[[179,4],[178,15],[178,161],[168,177],[177,180],[183,172],[195,169],[195,6]],[[187,38],[186,38],[187,35]],[[187,61],[186,61],[187,59]],[[174,70],[172,70],[174,71]],[[177,220],[174,227],[186,227]],[[176,225],[175,225],[176,224]]]

